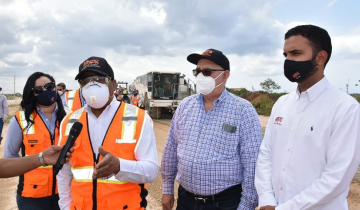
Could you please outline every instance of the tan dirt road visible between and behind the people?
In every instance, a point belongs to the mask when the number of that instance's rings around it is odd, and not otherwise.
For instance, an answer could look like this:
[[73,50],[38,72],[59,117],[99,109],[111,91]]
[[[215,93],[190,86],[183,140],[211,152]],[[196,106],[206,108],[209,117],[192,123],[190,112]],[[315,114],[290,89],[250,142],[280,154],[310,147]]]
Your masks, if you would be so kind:
[[[11,102],[12,104],[18,104],[19,101]],[[9,103],[10,104],[10,103]],[[14,114],[18,109],[16,106],[10,107],[10,114]],[[259,116],[261,121],[261,125],[263,127],[266,126],[268,117]],[[154,122],[154,131],[156,136],[156,144],[158,150],[158,161],[160,166],[160,161],[162,157],[162,151],[165,146],[165,141],[167,137],[167,133],[169,131],[169,123],[170,120],[161,120]],[[6,124],[3,130],[3,136],[7,135],[7,127]],[[0,146],[0,157],[3,157],[3,148],[4,143]],[[360,177],[360,176],[359,176]],[[9,179],[0,179],[0,210],[16,210],[16,185],[18,182],[18,178],[9,178]],[[162,181],[160,173],[155,180],[155,182],[147,185],[149,190],[148,199],[148,210],[160,210],[161,209],[161,195],[162,195]],[[178,185],[176,184],[175,189],[177,189]],[[175,190],[176,191],[176,190]],[[176,193],[176,192],[175,192]],[[175,198],[177,198],[177,194],[175,194]],[[350,186],[350,193],[348,196],[349,207],[350,210],[358,210],[360,209],[360,181],[354,180]]]

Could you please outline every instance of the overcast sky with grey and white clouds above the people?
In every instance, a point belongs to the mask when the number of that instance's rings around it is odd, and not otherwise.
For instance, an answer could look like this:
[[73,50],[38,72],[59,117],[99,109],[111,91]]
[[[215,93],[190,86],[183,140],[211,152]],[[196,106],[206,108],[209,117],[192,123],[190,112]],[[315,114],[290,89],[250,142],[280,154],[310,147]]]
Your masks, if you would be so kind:
[[215,48],[230,60],[228,87],[259,90],[271,78],[289,92],[296,84],[283,76],[284,34],[314,24],[332,38],[329,81],[360,92],[359,8],[358,0],[0,0],[0,85],[13,93],[15,75],[22,93],[42,71],[75,89],[90,56],[106,58],[118,81],[152,70],[195,81],[187,55]]

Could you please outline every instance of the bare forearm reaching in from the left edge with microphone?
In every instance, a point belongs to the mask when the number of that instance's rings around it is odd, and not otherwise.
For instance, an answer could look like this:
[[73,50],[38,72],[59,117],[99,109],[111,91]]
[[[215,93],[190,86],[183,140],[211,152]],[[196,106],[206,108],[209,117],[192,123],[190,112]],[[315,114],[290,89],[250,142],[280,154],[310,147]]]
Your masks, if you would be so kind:
[[19,176],[40,166],[39,155],[0,159],[0,178]]

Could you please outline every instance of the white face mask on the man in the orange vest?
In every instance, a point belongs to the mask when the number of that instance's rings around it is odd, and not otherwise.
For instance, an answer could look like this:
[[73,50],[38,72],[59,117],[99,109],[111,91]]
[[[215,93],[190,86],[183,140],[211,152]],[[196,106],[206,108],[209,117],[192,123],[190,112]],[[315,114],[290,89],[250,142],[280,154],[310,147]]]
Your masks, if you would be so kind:
[[94,109],[104,107],[109,100],[109,89],[106,84],[90,81],[81,92],[86,103]]

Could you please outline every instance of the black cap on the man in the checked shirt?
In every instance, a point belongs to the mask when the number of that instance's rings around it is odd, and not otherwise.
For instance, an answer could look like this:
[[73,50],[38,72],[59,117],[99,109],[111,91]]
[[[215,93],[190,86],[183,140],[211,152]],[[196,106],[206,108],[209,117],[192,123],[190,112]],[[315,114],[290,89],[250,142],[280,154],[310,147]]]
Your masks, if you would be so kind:
[[221,66],[224,70],[230,70],[230,63],[227,57],[219,50],[208,49],[203,54],[190,54],[187,60],[190,63],[197,65],[200,59],[208,59],[217,65]]

